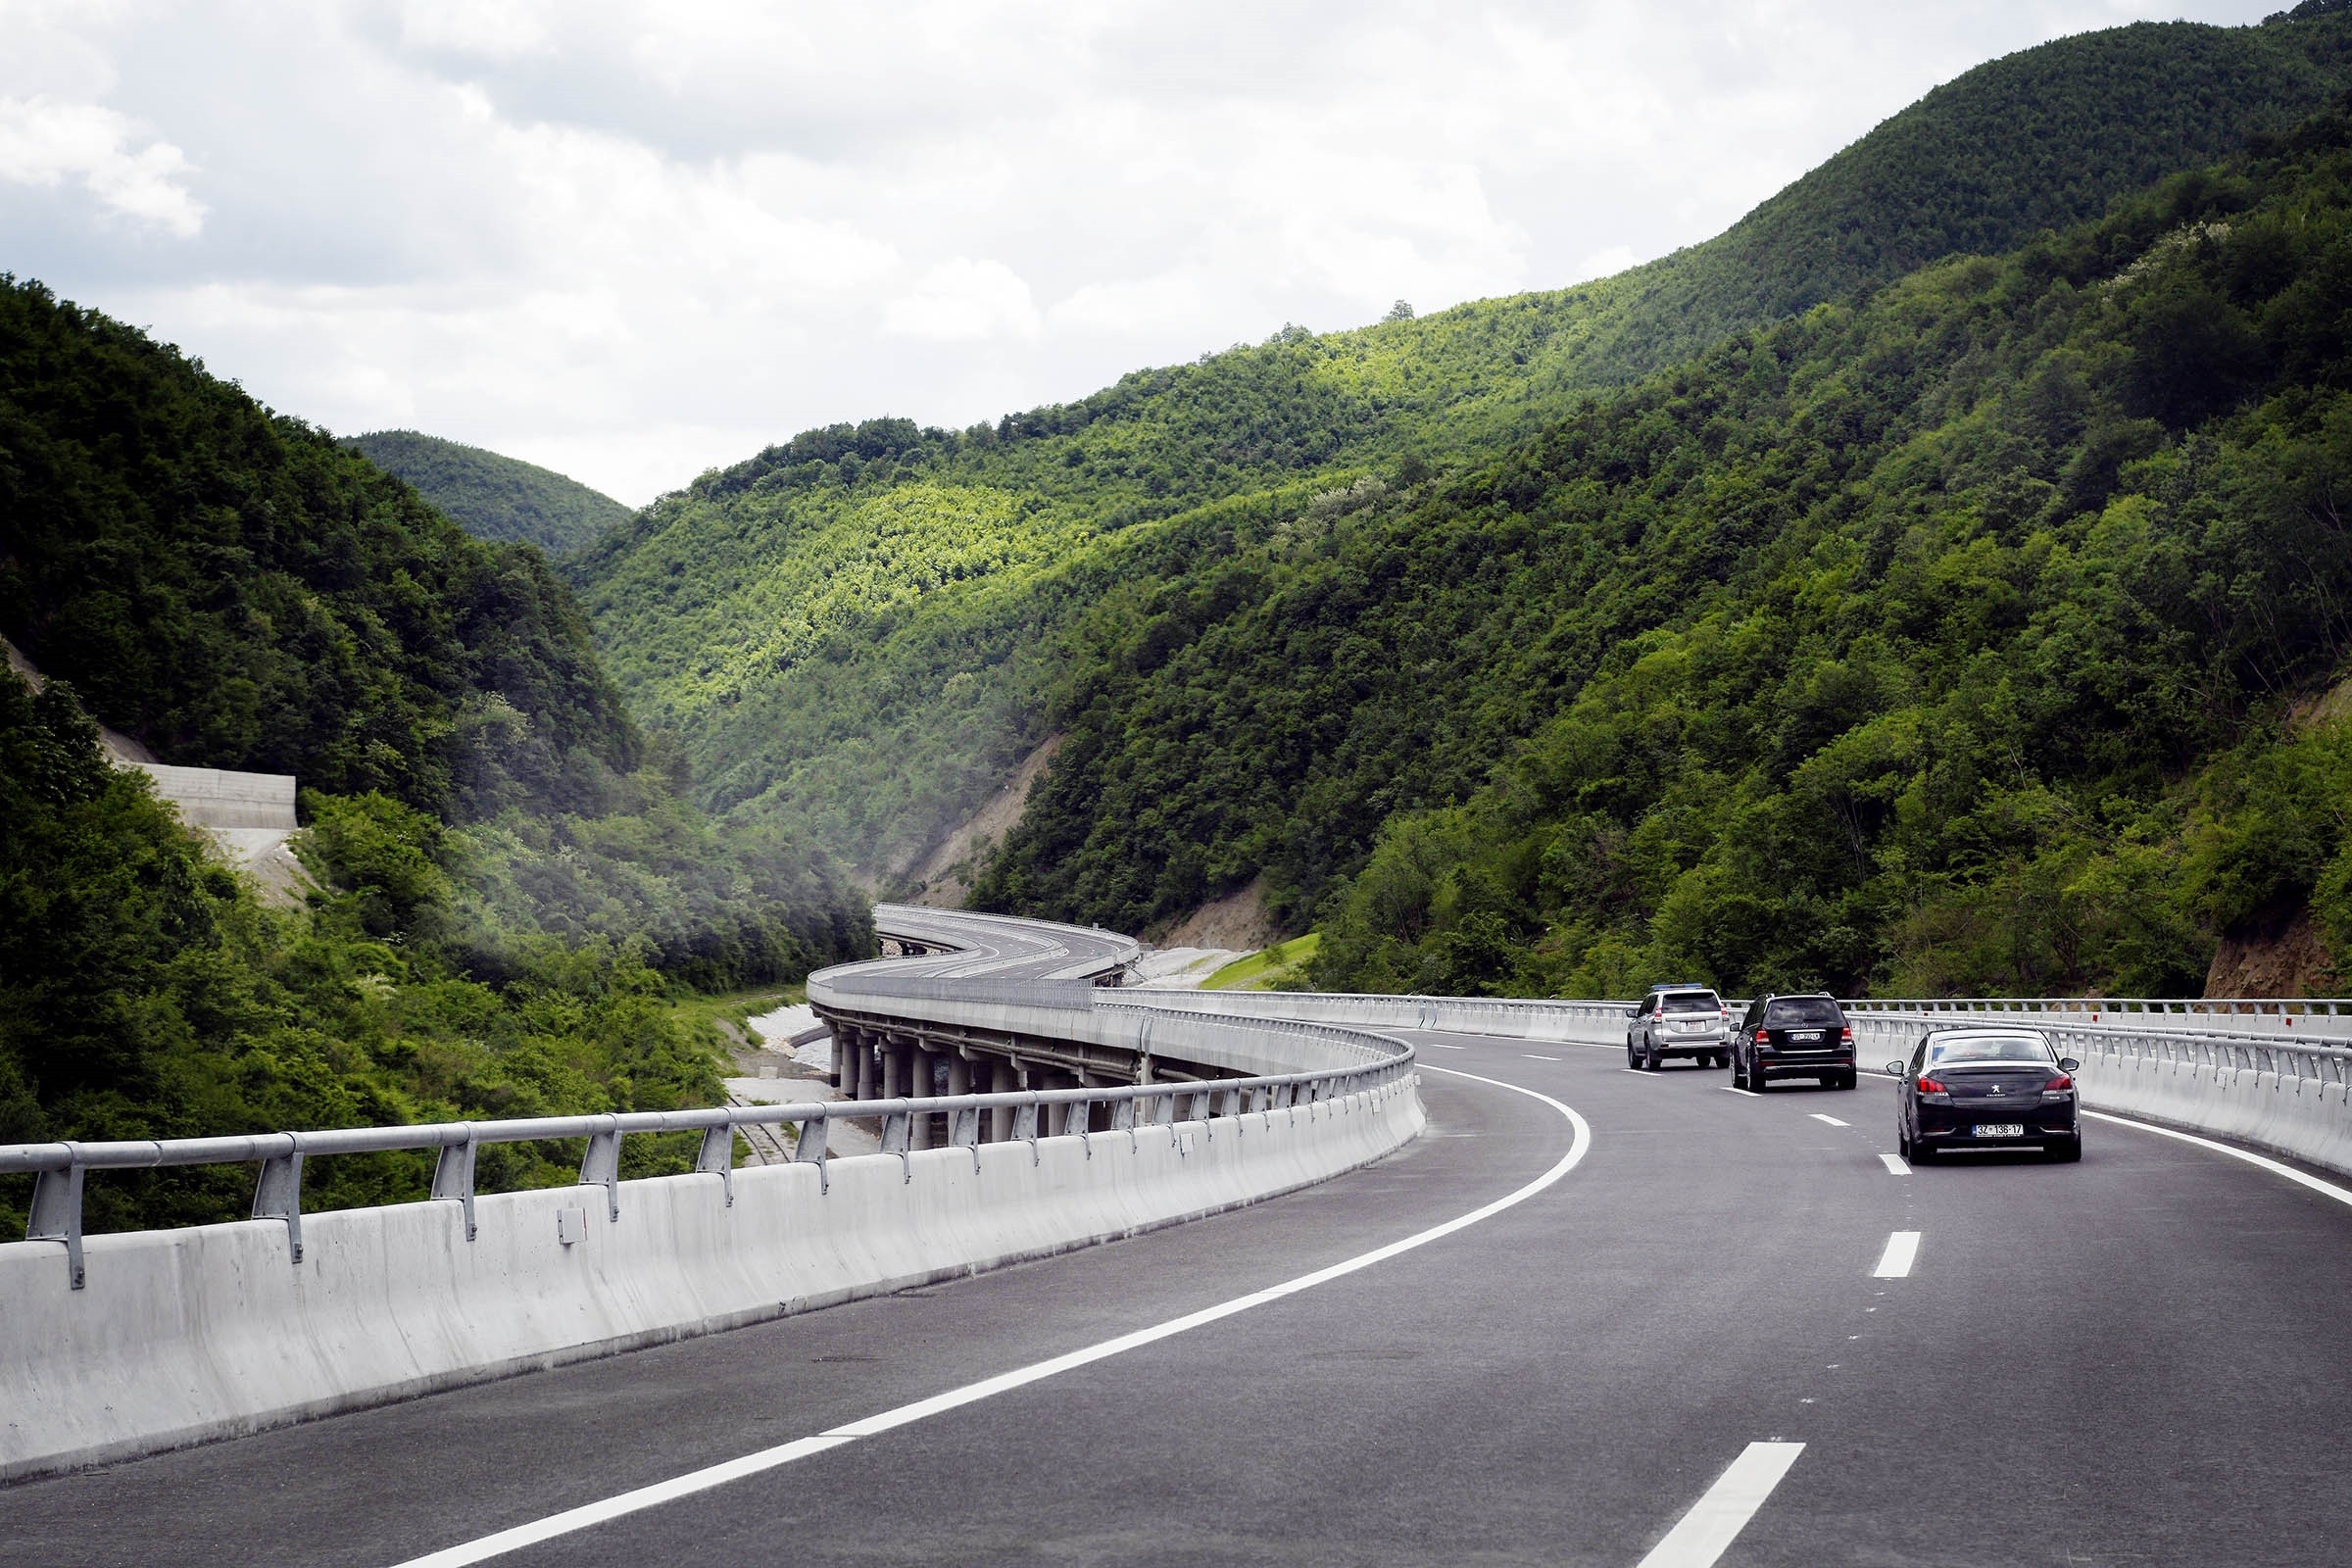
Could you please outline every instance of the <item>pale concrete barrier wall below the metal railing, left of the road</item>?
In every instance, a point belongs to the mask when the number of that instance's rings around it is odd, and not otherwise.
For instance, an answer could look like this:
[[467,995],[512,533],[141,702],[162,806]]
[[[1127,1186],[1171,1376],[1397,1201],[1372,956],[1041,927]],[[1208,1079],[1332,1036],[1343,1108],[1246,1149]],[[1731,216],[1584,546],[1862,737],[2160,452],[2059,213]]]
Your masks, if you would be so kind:
[[[0,1479],[614,1354],[1134,1234],[1411,1140],[1414,1081],[1134,1133],[0,1246]],[[564,1244],[560,1232],[579,1239]]]

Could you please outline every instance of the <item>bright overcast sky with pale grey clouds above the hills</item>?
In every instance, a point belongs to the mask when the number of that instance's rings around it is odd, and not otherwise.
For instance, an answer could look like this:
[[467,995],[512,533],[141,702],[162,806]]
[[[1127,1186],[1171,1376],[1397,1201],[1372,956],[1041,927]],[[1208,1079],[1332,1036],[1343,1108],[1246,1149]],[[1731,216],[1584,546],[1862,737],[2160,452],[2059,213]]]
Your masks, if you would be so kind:
[[2284,5],[0,0],[0,270],[642,503],[1611,273],[1978,61]]

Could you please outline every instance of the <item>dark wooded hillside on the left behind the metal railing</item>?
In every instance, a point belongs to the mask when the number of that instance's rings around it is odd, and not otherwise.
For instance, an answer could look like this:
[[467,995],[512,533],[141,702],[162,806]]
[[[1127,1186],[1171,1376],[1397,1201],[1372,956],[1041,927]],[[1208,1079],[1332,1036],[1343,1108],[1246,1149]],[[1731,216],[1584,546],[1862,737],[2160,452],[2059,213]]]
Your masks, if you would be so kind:
[[[710,1103],[715,1041],[668,992],[868,945],[830,860],[677,797],[536,550],[16,280],[0,632],[52,677],[0,672],[0,1143]],[[308,907],[259,903],[92,715],[296,773]],[[310,1201],[426,1173],[327,1161]],[[501,1154],[550,1178],[560,1152]],[[219,1218],[245,1180],[99,1182],[94,1215]]]

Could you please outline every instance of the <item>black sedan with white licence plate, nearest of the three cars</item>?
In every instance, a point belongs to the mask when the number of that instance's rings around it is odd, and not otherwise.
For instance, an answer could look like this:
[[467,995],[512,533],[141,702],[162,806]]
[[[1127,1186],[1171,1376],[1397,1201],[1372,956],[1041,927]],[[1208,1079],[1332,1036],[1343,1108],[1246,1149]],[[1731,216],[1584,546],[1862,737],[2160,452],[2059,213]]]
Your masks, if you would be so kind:
[[1945,1150],[2016,1147],[2082,1159],[2079,1070],[2034,1030],[1933,1030],[1910,1063],[1886,1063],[1900,1079],[1896,1143],[1915,1164]]

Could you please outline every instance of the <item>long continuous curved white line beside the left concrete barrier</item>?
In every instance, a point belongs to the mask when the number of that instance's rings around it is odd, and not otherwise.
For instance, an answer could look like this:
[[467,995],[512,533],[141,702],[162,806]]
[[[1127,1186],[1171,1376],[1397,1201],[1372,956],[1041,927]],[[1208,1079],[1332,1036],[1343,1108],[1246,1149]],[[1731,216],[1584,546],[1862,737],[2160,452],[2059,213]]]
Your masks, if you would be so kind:
[[802,1436],[790,1443],[779,1443],[776,1448],[762,1448],[757,1453],[746,1453],[739,1460],[727,1460],[722,1465],[708,1465],[703,1469],[689,1469],[682,1476],[670,1476],[668,1481],[656,1481],[652,1486],[640,1486],[635,1490],[619,1493],[616,1497],[604,1497],[602,1502],[586,1502],[576,1509],[564,1509],[562,1514],[548,1514],[546,1519],[534,1519],[532,1523],[520,1523],[510,1530],[499,1530],[494,1535],[482,1535],[480,1540],[468,1540],[456,1547],[442,1547],[440,1552],[428,1552],[426,1556],[412,1556],[395,1568],[461,1568],[461,1563],[480,1563],[494,1556],[506,1556],[508,1552],[520,1552],[522,1547],[536,1547],[543,1540],[555,1540],[557,1535],[572,1535],[574,1530],[586,1530],[590,1526],[621,1519],[623,1514],[637,1514],[649,1507],[661,1507],[663,1502],[677,1502],[680,1497],[691,1497],[694,1493],[706,1493],[713,1486],[727,1486],[729,1481],[741,1481],[746,1476],[757,1476],[762,1472],[790,1465],[793,1460],[804,1460],[814,1453],[826,1453],[828,1448],[840,1448],[842,1443],[854,1443],[861,1436],[877,1436],[882,1432],[894,1432],[913,1422],[941,1415],[946,1410],[957,1410],[981,1399],[995,1394],[1007,1394],[1030,1382],[1042,1382],[1058,1373],[1075,1371],[1080,1366],[1091,1366],[1094,1361],[1108,1361],[1110,1356],[1127,1354],[1129,1349],[1141,1349],[1143,1345],[1157,1345],[1160,1340],[1174,1338],[1190,1328],[1204,1328],[1221,1319],[1249,1312],[1251,1307],[1263,1307],[1277,1302],[1287,1295],[1298,1295],[1301,1291],[1312,1291],[1315,1286],[1343,1279],[1359,1269],[1369,1269],[1376,1262],[1388,1262],[1399,1253],[1411,1253],[1414,1248],[1428,1246],[1430,1241],[1442,1241],[1458,1229],[1470,1229],[1479,1220],[1491,1220],[1505,1208],[1515,1208],[1526,1199],[1536,1197],[1569,1171],[1573,1171],[1585,1152],[1592,1147],[1592,1128],[1573,1107],[1562,1105],[1548,1093],[1536,1093],[1534,1088],[1522,1088],[1517,1084],[1505,1084],[1503,1079],[1479,1077],[1475,1072],[1456,1072],[1454,1067],[1430,1067],[1423,1072],[1442,1072],[1451,1079],[1470,1079],[1472,1084],[1486,1084],[1491,1088],[1508,1088],[1510,1093],[1526,1095],[1529,1100],[1543,1100],[1562,1117],[1569,1119],[1573,1131],[1569,1140],[1569,1152],[1562,1154],[1550,1171],[1536,1180],[1505,1192],[1482,1208],[1472,1208],[1465,1215],[1456,1215],[1444,1225],[1432,1225],[1428,1229],[1414,1232],[1402,1241],[1390,1241],[1388,1246],[1376,1246],[1369,1253],[1357,1253],[1329,1267],[1315,1269],[1312,1274],[1301,1274],[1296,1279],[1284,1279],[1277,1286],[1265,1286],[1263,1291],[1251,1291],[1249,1295],[1237,1295],[1228,1302],[1214,1307],[1202,1307],[1200,1312],[1188,1312],[1174,1316],[1164,1324],[1152,1324],[1150,1328],[1138,1328],[1134,1333],[1122,1333],[1115,1340],[1103,1340],[1098,1345],[1087,1345],[1084,1349],[1073,1349],[1061,1356],[1049,1356],[1047,1361],[1033,1361],[1030,1366],[1018,1366],[1009,1373],[997,1373],[995,1378],[983,1378],[978,1382],[967,1382],[960,1389],[948,1389],[946,1394],[931,1394],[929,1399],[917,1399],[915,1403],[896,1406],[882,1410],[880,1415],[868,1415],[840,1427],[818,1432],[816,1436]]

